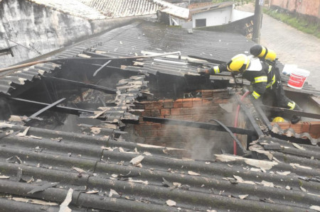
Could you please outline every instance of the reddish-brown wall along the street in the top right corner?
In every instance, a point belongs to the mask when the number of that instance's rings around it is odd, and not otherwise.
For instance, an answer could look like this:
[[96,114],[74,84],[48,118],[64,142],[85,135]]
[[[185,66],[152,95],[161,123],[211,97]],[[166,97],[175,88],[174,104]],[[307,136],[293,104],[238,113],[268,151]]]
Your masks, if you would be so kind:
[[270,6],[320,18],[319,0],[270,0]]

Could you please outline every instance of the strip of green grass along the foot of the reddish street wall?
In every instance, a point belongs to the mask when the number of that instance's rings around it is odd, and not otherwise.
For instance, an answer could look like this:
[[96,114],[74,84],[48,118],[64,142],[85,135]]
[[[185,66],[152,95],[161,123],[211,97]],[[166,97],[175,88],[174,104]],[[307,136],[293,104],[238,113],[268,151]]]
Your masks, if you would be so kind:
[[311,35],[320,38],[320,23],[308,21],[304,17],[295,16],[293,13],[280,12],[278,10],[272,9],[263,9],[263,12],[268,14],[269,16],[276,18],[279,21],[287,23],[289,26],[293,28],[297,28],[304,33],[308,33]]

